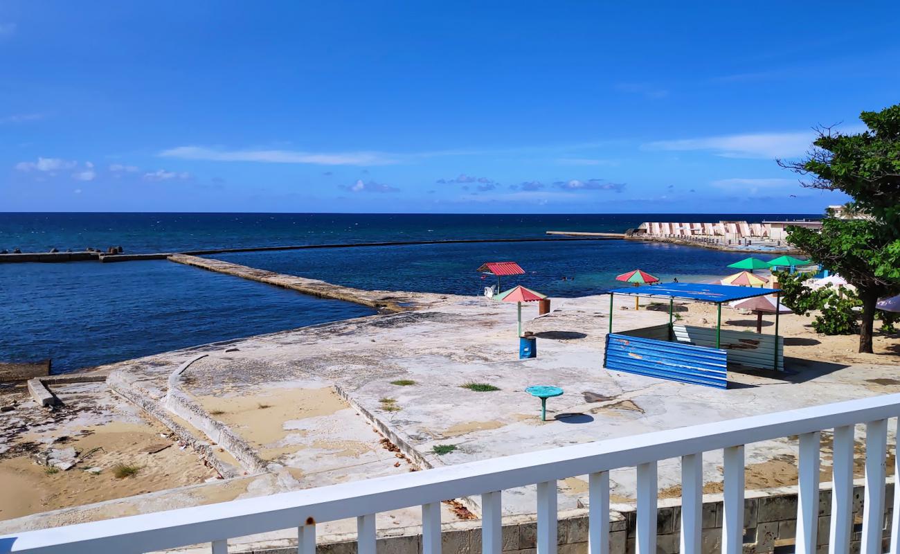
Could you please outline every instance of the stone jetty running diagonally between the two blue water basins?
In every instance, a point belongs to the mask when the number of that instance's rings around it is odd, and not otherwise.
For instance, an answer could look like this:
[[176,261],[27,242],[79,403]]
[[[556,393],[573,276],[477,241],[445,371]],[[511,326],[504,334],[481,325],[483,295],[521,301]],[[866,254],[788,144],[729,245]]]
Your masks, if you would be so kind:
[[382,313],[397,313],[417,309],[433,304],[439,297],[439,295],[428,293],[362,290],[350,286],[333,285],[318,279],[275,273],[266,269],[248,268],[247,266],[233,264],[220,259],[198,258],[187,254],[173,254],[168,259],[186,266],[193,266],[194,268],[207,269],[268,285],[289,288],[304,295],[363,304]]

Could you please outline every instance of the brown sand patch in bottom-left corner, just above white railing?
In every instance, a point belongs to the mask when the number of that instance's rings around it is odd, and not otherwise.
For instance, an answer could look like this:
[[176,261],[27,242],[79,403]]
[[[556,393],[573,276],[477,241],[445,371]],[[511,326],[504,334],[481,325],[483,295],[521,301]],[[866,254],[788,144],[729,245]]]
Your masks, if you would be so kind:
[[[156,450],[164,432],[156,425],[110,422],[92,425],[65,442],[84,456],[76,467],[49,474],[28,456],[0,460],[0,519],[202,483],[215,473],[204,468],[191,450],[176,445]],[[156,446],[154,446],[156,445]],[[154,448],[150,448],[153,446]],[[134,477],[116,478],[116,464],[139,467]],[[99,475],[85,471],[101,468]]]

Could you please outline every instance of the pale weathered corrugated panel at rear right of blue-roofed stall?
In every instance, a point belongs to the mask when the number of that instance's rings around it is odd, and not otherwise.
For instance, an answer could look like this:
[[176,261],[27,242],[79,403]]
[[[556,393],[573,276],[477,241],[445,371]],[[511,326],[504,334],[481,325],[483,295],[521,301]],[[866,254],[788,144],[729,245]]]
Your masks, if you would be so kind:
[[[716,330],[693,325],[674,325],[674,340],[681,343],[712,347],[716,345]],[[719,341],[728,352],[728,361],[748,368],[777,369],[784,371],[784,338],[779,336],[778,365],[775,364],[775,336],[752,331],[723,329]]]

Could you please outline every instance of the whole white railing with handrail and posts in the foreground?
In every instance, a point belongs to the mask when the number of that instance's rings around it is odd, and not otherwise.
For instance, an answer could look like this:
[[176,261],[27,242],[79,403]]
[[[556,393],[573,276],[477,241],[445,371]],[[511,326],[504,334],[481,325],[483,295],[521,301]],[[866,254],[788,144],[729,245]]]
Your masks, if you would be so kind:
[[[446,468],[356,481],[222,504],[148,513],[103,522],[0,537],[0,552],[81,554],[148,552],[211,543],[213,554],[228,551],[227,540],[267,531],[298,529],[298,551],[313,554],[316,524],[356,517],[358,551],[375,552],[375,513],[420,505],[422,552],[441,549],[440,502],[482,496],[482,551],[501,549],[500,491],[537,486],[537,552],[555,554],[556,481],[589,475],[591,554],[609,549],[609,470],[637,468],[635,549],[656,552],[657,462],[681,459],[681,552],[700,547],[703,453],[724,450],[725,501],[722,551],[742,551],[744,445],[799,436],[797,552],[816,551],[819,504],[820,431],[834,430],[832,554],[850,549],[853,495],[853,430],[866,425],[865,505],[861,552],[881,551],[885,510],[887,419],[900,414],[900,395],[884,395],[659,431],[633,437],[541,450]],[[896,468],[895,468],[896,469]],[[0,493],[2,494],[2,493]],[[894,495],[891,552],[897,552],[900,494]]]

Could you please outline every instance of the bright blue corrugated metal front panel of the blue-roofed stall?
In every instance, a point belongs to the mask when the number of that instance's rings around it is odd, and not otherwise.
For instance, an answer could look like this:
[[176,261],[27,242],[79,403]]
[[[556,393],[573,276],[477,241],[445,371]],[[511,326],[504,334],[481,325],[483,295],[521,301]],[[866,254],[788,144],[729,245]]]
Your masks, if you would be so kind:
[[603,366],[691,385],[728,387],[725,350],[680,342],[608,334]]

